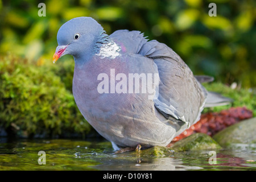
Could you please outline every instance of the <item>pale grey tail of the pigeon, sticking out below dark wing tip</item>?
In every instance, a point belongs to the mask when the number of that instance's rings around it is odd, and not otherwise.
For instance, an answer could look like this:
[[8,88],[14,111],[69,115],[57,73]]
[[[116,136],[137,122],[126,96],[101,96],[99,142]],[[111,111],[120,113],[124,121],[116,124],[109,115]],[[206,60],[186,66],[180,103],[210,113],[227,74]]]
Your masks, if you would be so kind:
[[216,92],[208,92],[205,107],[224,106],[231,102],[233,102],[231,98],[221,96],[221,94]]

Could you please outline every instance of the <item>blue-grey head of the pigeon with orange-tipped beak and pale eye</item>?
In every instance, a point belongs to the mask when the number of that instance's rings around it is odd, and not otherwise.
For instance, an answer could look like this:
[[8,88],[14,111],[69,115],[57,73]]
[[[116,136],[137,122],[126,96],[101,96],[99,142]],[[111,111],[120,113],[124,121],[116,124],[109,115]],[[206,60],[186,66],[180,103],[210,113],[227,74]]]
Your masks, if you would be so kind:
[[53,55],[53,63],[61,56],[90,56],[98,36],[104,32],[101,25],[90,17],[73,18],[64,23],[57,33],[59,46]]

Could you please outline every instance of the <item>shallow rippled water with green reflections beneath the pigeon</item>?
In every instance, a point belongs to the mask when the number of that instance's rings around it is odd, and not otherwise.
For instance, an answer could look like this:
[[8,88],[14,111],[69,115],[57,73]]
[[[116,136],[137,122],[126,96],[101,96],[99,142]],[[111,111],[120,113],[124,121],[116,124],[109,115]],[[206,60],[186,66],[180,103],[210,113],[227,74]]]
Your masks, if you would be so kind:
[[[39,151],[46,153],[45,160]],[[256,151],[218,150],[216,154],[217,164],[209,164],[209,151],[173,152],[156,158],[130,152],[114,154],[105,140],[7,142],[0,138],[0,170],[256,170]],[[44,161],[46,164],[39,164]]]

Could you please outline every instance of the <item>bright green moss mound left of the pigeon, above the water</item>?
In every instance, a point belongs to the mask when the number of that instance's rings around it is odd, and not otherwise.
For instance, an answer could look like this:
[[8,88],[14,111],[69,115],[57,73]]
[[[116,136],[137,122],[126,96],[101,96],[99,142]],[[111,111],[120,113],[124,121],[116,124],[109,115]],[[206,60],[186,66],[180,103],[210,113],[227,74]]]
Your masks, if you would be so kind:
[[53,66],[38,63],[0,57],[0,127],[23,137],[85,135],[90,126],[65,88],[65,78],[56,76]]

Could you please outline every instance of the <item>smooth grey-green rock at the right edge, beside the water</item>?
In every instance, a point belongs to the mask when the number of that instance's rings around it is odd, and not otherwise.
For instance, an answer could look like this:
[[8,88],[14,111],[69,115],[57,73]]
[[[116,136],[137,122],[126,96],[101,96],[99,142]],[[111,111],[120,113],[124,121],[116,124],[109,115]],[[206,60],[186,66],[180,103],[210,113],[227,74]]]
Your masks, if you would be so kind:
[[227,127],[213,136],[222,147],[256,150],[256,118],[246,119]]

